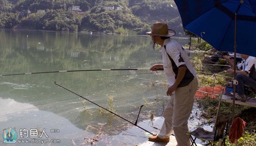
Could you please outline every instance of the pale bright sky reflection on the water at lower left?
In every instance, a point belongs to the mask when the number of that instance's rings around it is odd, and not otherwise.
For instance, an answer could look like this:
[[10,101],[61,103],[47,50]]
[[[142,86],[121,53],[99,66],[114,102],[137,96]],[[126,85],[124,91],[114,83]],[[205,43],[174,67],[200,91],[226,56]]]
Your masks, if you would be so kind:
[[[39,110],[32,104],[16,102],[10,98],[0,98],[0,107],[5,107],[2,108],[2,112],[0,113],[1,128],[12,126],[18,133],[20,129],[38,129],[39,135],[41,134],[40,131],[45,129],[49,138],[43,137],[37,139],[61,140],[62,144],[55,143],[55,146],[71,145],[70,139],[75,139],[76,142],[83,143],[84,137],[93,135],[90,132],[85,133],[84,130],[77,128],[66,118],[53,114],[52,112]],[[51,132],[50,129],[58,129],[59,132]],[[18,139],[32,140],[32,138],[20,138],[20,136],[18,136]],[[27,146],[27,143],[16,144]]]

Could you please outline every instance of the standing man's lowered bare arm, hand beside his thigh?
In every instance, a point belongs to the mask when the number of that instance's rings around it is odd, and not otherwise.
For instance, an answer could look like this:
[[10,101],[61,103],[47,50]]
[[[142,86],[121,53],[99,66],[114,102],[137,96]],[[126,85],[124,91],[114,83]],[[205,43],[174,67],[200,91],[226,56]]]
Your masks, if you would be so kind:
[[169,96],[169,95],[171,96],[172,93],[176,90],[176,88],[180,84],[180,81],[185,76],[185,72],[186,72],[186,66],[183,65],[183,66],[179,67],[177,79],[175,80],[174,84],[168,88],[168,90],[166,92],[167,96]]

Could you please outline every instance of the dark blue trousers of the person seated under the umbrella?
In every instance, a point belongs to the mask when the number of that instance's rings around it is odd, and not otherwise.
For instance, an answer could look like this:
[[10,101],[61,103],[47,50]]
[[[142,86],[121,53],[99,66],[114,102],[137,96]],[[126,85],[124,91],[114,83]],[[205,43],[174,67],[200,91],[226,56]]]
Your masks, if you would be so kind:
[[237,84],[238,95],[244,95],[244,84],[252,87],[253,89],[256,89],[256,81],[253,78],[250,78],[249,76],[244,76],[238,73],[236,74],[236,80],[238,81],[238,84]]

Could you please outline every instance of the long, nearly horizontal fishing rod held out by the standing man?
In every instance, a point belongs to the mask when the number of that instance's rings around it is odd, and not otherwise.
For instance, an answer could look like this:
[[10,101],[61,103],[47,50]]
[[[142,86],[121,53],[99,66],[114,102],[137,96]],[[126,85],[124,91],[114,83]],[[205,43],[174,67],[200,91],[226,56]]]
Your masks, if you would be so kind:
[[59,70],[59,71],[47,71],[47,72],[36,72],[36,73],[17,73],[17,74],[7,74],[7,75],[0,75],[0,76],[16,76],[16,75],[27,75],[27,74],[40,74],[40,73],[63,73],[63,72],[79,72],[79,71],[106,71],[106,70],[149,70],[149,68],[95,69],[95,70]]

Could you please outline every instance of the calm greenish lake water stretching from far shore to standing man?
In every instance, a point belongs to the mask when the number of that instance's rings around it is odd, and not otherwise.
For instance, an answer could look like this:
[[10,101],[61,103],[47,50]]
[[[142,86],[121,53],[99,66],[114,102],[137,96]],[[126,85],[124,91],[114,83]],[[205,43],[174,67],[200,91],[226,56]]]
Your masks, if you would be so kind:
[[[175,39],[187,43],[187,39]],[[149,68],[160,62],[160,53],[152,49],[149,36],[0,30],[0,75]],[[0,128],[12,127],[17,133],[20,129],[38,129],[39,135],[45,129],[49,138],[38,139],[61,140],[59,144],[33,145],[79,145],[84,138],[88,141],[99,134],[98,145],[142,143],[147,140],[143,130],[100,113],[99,107],[58,87],[54,81],[105,108],[109,108],[108,99],[112,97],[115,112],[132,122],[137,119],[139,107],[148,103],[142,108],[138,125],[156,131],[149,122],[150,111],[161,115],[167,86],[148,80],[166,82],[163,73],[149,70],[0,76]],[[153,126],[160,128],[161,123]],[[18,139],[22,138],[18,135]]]

